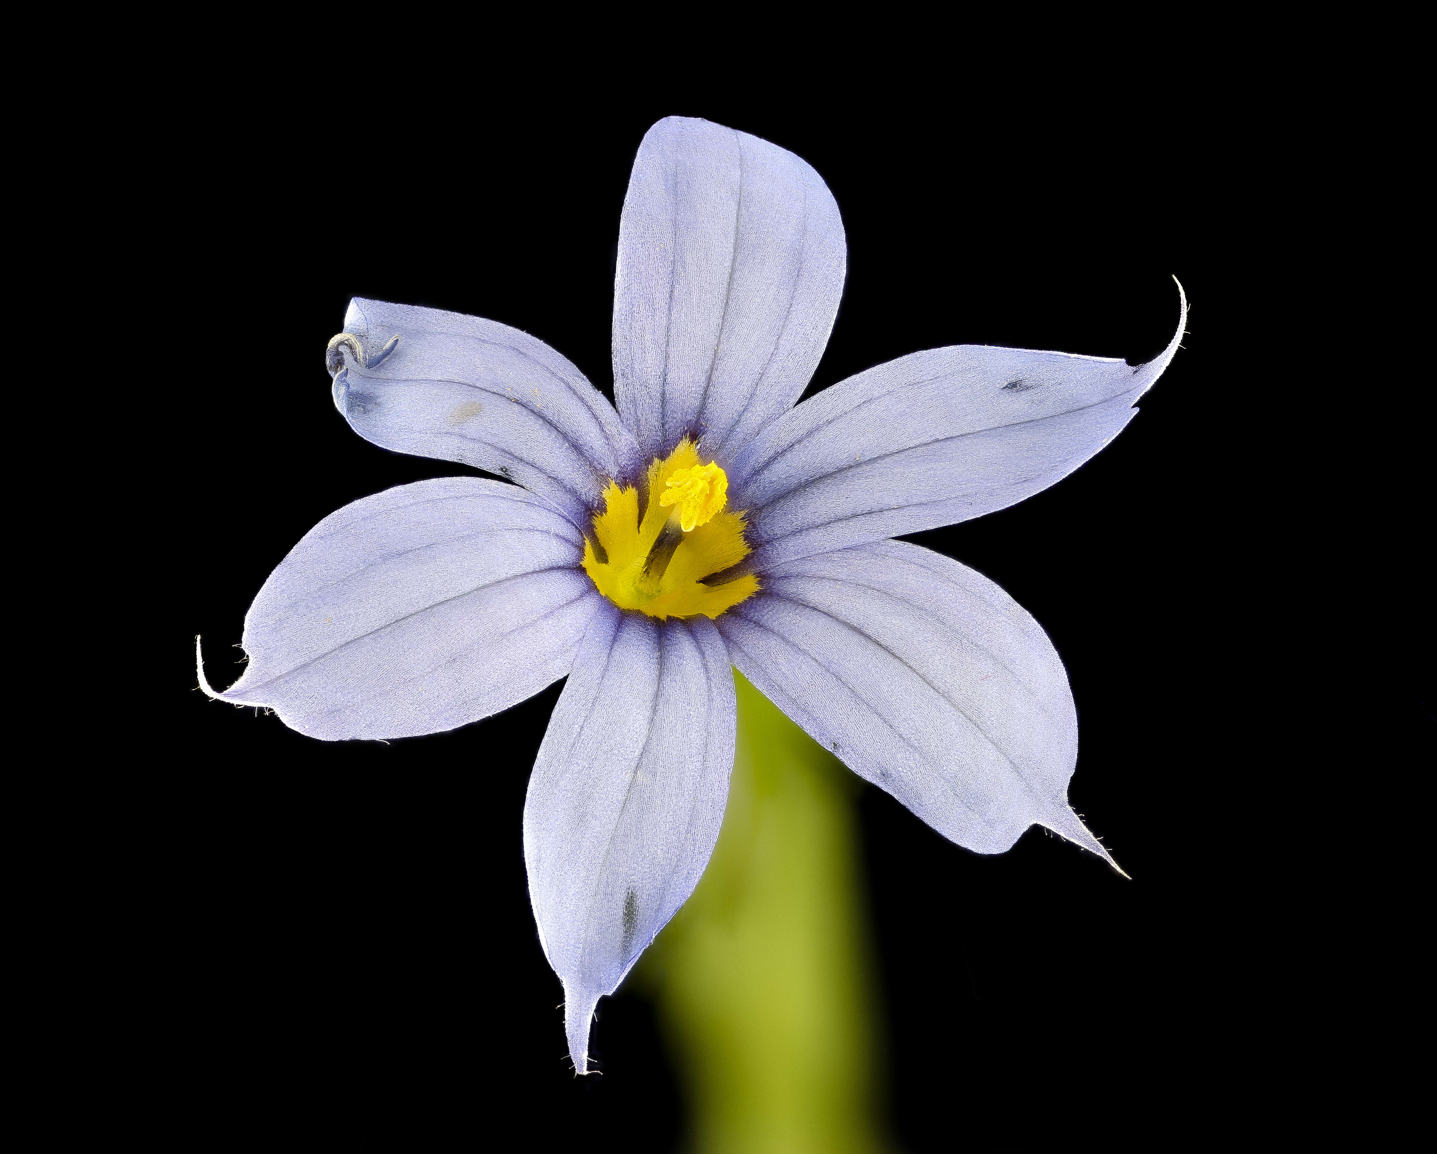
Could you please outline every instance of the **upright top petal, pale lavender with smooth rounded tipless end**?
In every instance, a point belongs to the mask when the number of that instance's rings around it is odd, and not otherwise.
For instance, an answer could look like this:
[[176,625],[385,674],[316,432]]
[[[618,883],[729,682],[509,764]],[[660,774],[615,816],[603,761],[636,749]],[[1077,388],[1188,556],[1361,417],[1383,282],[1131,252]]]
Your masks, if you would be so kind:
[[648,457],[683,434],[727,460],[803,392],[848,247],[808,164],[708,121],[644,137],[619,224],[614,395]]

